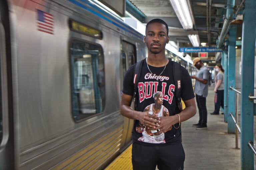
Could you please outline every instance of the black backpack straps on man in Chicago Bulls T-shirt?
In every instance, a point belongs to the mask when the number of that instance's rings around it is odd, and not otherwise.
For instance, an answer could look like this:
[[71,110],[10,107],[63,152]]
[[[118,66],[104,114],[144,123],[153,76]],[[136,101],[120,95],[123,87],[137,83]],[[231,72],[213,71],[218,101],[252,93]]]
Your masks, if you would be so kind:
[[[133,87],[134,87],[134,98],[135,98],[135,102],[134,102],[134,107],[135,110],[137,108],[137,93],[138,93],[138,81],[140,78],[140,73],[141,73],[141,67],[142,67],[142,63],[143,60],[138,61],[137,63],[135,63],[134,66],[134,76],[133,76]],[[181,97],[180,97],[180,88],[181,88],[181,65],[177,62],[174,62],[172,60],[169,59],[170,62],[172,62],[172,66],[173,66],[173,76],[174,76],[174,82],[175,82],[175,97],[176,97],[176,103],[177,103],[177,107],[178,107],[178,112],[181,112],[182,108],[181,108]]]

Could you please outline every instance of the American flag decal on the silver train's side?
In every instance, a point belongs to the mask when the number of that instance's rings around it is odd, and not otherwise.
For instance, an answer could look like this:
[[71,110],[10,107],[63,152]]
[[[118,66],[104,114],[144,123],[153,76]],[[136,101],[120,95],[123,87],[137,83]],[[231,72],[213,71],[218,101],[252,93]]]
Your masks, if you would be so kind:
[[37,30],[53,34],[53,15],[37,9]]

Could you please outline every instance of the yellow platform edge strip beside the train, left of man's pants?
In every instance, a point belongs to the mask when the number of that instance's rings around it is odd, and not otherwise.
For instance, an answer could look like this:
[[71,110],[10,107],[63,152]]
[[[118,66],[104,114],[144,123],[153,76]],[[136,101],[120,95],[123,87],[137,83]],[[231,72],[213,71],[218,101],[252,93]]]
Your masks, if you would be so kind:
[[132,170],[132,145],[123,151],[105,170]]

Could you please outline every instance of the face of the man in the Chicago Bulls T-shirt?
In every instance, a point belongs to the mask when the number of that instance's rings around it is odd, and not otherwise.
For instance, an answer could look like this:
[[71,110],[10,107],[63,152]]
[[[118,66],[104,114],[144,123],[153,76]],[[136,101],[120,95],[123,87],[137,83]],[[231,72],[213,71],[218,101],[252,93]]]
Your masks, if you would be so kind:
[[149,24],[143,42],[146,43],[149,52],[153,54],[165,51],[165,45],[169,42],[165,25],[161,23]]

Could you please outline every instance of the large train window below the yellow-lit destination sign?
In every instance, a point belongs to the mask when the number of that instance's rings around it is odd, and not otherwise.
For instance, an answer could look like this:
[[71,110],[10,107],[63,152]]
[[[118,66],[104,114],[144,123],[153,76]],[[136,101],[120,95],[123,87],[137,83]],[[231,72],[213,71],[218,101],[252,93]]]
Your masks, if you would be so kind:
[[70,46],[72,114],[75,121],[105,107],[103,50],[99,44],[73,40]]

